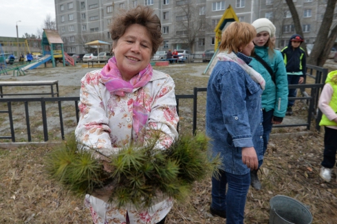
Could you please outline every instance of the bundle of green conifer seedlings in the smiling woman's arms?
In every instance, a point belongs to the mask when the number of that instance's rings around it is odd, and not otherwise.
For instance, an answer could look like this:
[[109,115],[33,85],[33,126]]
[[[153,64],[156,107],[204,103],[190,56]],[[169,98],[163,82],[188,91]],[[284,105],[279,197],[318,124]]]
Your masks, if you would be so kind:
[[[184,202],[194,181],[219,174],[221,159],[208,154],[204,133],[180,134],[166,150],[155,147],[158,139],[159,135],[153,136],[144,146],[129,146],[105,156],[76,142],[72,135],[47,155],[46,169],[52,179],[78,196],[109,192],[108,202],[139,209],[165,197]],[[108,169],[96,153],[106,157]]]

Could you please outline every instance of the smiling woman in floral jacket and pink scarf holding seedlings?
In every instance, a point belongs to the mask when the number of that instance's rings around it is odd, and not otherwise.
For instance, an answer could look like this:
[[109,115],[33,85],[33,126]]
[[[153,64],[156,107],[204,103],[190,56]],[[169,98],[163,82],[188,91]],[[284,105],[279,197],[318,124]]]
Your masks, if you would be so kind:
[[[150,64],[163,40],[160,20],[151,8],[138,5],[120,11],[110,31],[114,56],[81,80],[76,139],[96,148],[102,161],[122,147],[148,144],[154,134],[159,136],[155,148],[166,150],[177,138],[179,117],[173,79]],[[94,223],[164,223],[173,205],[164,197],[146,210],[118,209],[116,201],[108,200],[110,194],[87,194]]]

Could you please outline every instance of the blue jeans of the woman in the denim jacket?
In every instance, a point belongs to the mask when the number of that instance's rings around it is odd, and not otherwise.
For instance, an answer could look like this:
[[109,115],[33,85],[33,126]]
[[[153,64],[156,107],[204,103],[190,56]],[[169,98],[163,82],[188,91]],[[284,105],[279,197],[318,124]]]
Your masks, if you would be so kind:
[[243,213],[250,186],[250,173],[233,175],[220,170],[220,175],[219,180],[212,177],[212,203],[210,206],[216,210],[226,210],[226,223],[243,224]]

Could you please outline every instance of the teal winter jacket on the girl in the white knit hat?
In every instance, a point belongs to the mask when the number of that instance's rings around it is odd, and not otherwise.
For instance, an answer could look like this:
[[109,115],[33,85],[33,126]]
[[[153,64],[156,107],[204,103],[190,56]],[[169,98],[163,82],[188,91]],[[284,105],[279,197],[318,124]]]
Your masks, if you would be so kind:
[[274,116],[284,117],[288,103],[288,81],[283,56],[281,52],[274,50],[275,54],[271,58],[268,55],[268,47],[255,46],[254,52],[268,63],[272,71],[274,71],[276,78],[275,85],[268,70],[258,60],[253,58],[250,62],[249,65],[265,79],[265,90],[262,93],[262,108],[265,111],[274,109]]

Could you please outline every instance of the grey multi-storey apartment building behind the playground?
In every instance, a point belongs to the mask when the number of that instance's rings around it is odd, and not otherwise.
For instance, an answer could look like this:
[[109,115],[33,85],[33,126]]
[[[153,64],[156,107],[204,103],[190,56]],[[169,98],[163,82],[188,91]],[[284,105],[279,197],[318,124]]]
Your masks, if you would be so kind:
[[[276,26],[276,47],[282,48],[295,33],[292,16],[285,0],[54,0],[58,33],[67,53],[93,51],[85,43],[100,39],[112,43],[111,17],[121,8],[148,5],[162,21],[164,43],[160,50],[190,49],[203,52],[215,45],[214,28],[228,5],[240,21],[252,23],[266,17]],[[294,0],[306,43],[314,43],[325,0]],[[337,10],[336,10],[337,12]],[[337,15],[337,14],[336,14]],[[337,16],[334,16],[334,23]],[[102,50],[109,51],[106,47]],[[100,49],[101,51],[101,49]]]

